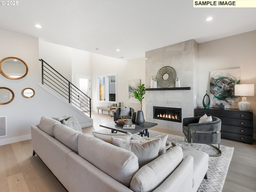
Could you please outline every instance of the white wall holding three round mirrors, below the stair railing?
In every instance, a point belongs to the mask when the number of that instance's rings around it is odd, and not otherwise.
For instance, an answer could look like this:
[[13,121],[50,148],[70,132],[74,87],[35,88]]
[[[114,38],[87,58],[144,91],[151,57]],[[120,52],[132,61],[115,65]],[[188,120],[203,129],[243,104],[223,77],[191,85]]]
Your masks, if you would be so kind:
[[[0,42],[0,60],[13,56],[22,59],[28,66],[27,76],[19,80],[11,80],[0,74],[0,87],[10,88],[14,92],[11,103],[0,105],[0,116],[7,116],[7,136],[0,137],[0,145],[30,139],[30,126],[39,124],[41,116],[72,114],[80,124],[92,124],[72,106],[63,105],[62,101],[38,86],[38,38],[0,29]],[[35,96],[30,99],[22,96],[22,90],[28,87],[35,90]]]

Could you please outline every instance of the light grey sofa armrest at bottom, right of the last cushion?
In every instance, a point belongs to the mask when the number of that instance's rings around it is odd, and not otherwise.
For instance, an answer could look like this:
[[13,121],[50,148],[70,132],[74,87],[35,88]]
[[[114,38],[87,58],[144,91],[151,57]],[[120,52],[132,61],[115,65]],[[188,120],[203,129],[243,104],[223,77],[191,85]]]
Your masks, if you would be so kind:
[[193,163],[192,156],[185,156],[176,170],[154,192],[191,192],[193,187]]

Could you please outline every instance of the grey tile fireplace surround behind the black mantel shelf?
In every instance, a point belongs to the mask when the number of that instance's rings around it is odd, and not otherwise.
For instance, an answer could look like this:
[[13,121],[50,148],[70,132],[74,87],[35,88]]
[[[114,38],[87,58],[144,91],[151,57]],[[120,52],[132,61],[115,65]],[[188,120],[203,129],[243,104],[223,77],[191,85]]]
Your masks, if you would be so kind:
[[147,90],[146,121],[182,131],[182,122],[154,119],[153,106],[182,108],[182,118],[194,116],[194,110],[198,108],[198,43],[188,40],[151,50],[146,52],[146,58],[146,88],[150,88],[151,76],[156,77],[164,66],[172,66],[175,69],[181,87],[191,87],[191,90]]

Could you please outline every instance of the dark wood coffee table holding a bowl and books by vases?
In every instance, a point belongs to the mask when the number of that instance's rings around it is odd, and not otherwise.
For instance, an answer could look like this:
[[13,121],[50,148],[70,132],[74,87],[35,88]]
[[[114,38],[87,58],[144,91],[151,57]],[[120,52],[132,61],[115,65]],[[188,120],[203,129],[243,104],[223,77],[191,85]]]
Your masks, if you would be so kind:
[[131,134],[135,134],[139,132],[140,136],[148,136],[149,137],[149,133],[148,133],[148,128],[154,127],[157,125],[157,123],[151,123],[151,122],[144,122],[144,125],[137,125],[135,123],[132,123],[131,119],[128,119],[129,122],[126,124],[134,124],[135,125],[135,129],[123,129],[123,125],[118,125],[116,124],[114,121],[106,123],[106,124],[102,124],[100,125],[101,127],[107,128],[107,129],[111,129],[111,132],[122,132],[122,133],[131,133]]

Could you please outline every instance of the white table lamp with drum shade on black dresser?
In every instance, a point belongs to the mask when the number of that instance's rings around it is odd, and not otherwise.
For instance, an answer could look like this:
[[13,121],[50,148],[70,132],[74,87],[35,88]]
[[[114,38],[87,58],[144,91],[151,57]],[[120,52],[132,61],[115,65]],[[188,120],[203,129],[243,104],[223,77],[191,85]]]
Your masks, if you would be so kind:
[[242,101],[238,103],[238,109],[241,111],[250,110],[251,104],[246,101],[245,96],[254,96],[254,84],[236,84],[235,96],[243,96]]

